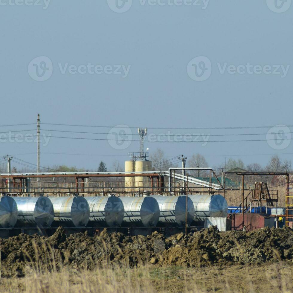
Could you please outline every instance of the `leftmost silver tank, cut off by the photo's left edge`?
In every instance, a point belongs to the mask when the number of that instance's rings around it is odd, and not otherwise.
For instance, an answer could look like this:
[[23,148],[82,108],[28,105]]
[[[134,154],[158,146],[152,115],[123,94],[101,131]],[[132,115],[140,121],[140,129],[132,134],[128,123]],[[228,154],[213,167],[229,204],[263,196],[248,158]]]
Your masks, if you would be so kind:
[[12,196],[0,198],[0,228],[13,228],[17,222],[17,205]]

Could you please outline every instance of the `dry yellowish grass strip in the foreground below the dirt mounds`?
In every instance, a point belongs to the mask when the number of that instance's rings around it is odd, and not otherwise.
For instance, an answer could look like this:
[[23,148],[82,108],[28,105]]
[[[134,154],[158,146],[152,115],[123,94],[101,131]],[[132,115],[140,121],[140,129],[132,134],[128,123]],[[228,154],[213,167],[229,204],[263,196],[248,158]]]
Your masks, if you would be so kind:
[[24,278],[1,279],[1,292],[292,292],[293,265],[226,268],[144,266],[96,271],[28,271]]

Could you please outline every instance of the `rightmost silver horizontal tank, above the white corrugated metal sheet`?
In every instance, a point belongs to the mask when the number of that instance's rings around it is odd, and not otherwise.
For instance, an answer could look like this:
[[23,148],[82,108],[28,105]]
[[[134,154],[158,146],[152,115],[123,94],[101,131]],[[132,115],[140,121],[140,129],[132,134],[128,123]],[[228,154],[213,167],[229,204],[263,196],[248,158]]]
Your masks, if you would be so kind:
[[215,195],[190,195],[194,205],[194,221],[204,221],[206,217],[226,218],[228,204],[224,196]]

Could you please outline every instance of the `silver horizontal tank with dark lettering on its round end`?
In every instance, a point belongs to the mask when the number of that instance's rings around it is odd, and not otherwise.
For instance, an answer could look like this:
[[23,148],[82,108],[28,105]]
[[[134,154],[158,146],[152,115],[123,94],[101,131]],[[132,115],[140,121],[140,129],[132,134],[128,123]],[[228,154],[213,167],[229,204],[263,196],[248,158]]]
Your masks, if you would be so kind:
[[89,205],[88,225],[94,224],[109,227],[118,227],[124,218],[124,206],[117,196],[85,197]]

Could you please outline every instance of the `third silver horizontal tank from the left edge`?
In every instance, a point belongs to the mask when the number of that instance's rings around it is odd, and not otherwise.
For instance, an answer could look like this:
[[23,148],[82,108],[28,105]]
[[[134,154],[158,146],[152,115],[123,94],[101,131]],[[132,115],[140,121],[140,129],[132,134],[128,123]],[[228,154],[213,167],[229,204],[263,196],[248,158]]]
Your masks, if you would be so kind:
[[54,207],[54,226],[86,227],[89,221],[89,205],[82,196],[50,197]]

